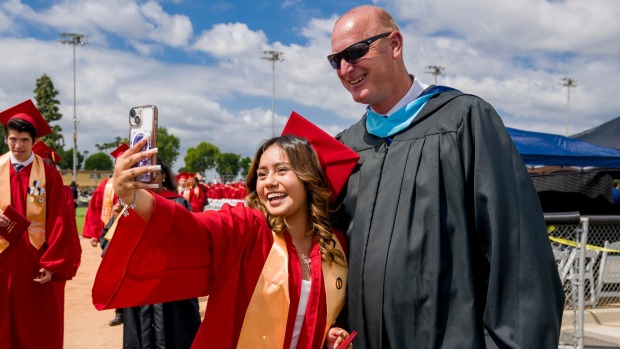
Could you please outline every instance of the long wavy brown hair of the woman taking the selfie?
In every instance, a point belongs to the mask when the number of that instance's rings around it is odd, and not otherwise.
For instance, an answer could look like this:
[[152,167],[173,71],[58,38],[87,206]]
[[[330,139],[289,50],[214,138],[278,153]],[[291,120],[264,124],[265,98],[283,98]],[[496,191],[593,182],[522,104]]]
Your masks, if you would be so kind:
[[274,137],[263,142],[256,151],[250,170],[245,180],[248,188],[246,202],[248,206],[261,210],[271,229],[282,233],[286,229],[284,217],[272,216],[265,205],[260,201],[256,192],[258,180],[258,165],[263,153],[271,146],[276,145],[288,156],[293,171],[304,183],[307,192],[308,233],[313,234],[319,244],[319,250],[324,260],[332,262],[336,259],[344,261],[344,256],[335,249],[333,229],[330,223],[330,191],[327,187],[319,157],[307,139],[293,135]]

